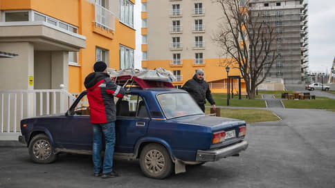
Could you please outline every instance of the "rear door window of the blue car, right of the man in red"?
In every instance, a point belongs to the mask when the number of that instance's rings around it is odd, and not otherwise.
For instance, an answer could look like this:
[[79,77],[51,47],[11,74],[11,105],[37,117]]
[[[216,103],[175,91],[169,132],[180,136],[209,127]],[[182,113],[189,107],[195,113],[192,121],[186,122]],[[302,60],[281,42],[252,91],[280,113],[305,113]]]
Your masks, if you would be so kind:
[[116,116],[148,118],[145,102],[140,95],[125,95],[116,102]]

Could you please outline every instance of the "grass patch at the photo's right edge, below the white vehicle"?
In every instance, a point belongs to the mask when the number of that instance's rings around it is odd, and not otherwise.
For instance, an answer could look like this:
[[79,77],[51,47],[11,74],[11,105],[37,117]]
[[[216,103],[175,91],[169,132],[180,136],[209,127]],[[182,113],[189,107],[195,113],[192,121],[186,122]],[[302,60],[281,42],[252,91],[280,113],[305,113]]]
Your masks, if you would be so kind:
[[285,108],[291,109],[327,109],[335,110],[335,100],[328,97],[316,97],[316,100],[282,100]]

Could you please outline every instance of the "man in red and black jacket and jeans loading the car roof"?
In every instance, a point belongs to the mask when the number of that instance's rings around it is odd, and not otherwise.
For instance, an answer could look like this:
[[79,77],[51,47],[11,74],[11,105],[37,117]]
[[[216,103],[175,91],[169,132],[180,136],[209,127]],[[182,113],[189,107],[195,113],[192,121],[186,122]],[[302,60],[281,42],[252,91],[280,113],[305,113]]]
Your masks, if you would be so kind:
[[[94,176],[114,178],[118,176],[113,168],[115,145],[116,106],[114,97],[123,97],[125,90],[111,81],[107,74],[105,62],[96,62],[94,71],[86,78],[91,123],[93,124],[93,164]],[[102,149],[102,133],[105,135],[105,158],[101,167],[100,151]],[[101,174],[102,173],[102,174]]]

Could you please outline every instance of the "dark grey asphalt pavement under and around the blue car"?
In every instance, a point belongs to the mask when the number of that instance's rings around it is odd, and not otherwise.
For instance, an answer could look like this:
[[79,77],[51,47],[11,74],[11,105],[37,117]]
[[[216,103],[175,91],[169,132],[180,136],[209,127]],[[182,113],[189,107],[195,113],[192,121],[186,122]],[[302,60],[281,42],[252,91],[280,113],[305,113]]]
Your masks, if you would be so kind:
[[137,161],[116,161],[120,177],[92,176],[91,156],[62,154],[34,164],[24,147],[0,147],[0,187],[335,187],[335,113],[271,109],[282,120],[248,124],[239,157],[146,178]]

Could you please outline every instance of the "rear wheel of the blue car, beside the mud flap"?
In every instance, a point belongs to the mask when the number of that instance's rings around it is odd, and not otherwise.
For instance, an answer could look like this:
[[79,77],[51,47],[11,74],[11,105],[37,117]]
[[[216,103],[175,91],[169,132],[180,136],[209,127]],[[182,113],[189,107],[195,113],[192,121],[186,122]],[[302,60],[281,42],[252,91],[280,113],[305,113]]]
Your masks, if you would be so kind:
[[172,173],[170,154],[161,144],[148,144],[141,152],[141,170],[145,176],[163,179]]

